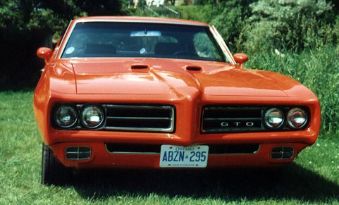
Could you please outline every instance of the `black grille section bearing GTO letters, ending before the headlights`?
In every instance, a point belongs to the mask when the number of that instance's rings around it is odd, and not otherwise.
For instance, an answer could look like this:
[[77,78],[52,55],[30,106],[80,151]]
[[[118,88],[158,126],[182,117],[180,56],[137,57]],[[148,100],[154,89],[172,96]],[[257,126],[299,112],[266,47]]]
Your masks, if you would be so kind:
[[265,130],[261,123],[263,107],[204,106],[202,133],[249,132]]

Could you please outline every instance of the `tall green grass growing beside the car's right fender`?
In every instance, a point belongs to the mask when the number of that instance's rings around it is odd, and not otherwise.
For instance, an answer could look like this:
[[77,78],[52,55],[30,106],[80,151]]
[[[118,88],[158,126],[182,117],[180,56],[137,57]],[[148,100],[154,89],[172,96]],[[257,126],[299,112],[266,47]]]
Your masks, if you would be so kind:
[[309,87],[321,103],[321,133],[339,135],[339,46],[283,55],[260,53],[249,55],[246,68],[283,73]]

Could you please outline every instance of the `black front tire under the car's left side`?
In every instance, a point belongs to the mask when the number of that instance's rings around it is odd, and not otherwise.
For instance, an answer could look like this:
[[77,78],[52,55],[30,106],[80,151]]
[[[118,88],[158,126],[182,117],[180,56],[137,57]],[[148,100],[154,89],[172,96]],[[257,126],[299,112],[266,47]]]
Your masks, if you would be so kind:
[[42,185],[65,185],[72,179],[72,170],[63,166],[53,151],[42,144]]

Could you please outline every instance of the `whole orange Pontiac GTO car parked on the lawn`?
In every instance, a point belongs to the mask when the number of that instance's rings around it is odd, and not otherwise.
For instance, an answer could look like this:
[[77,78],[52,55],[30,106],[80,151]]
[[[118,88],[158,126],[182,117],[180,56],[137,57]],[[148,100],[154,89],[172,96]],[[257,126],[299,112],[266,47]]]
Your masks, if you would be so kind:
[[242,68],[247,56],[204,23],[78,18],[37,56],[43,184],[70,168],[282,166],[319,134],[309,89]]

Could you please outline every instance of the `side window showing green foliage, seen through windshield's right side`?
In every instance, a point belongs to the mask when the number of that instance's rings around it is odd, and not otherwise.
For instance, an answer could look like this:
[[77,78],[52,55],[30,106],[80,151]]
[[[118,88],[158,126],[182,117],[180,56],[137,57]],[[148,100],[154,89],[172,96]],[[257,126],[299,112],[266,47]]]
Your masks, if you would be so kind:
[[197,51],[198,56],[222,60],[216,46],[211,42],[207,33],[198,32],[195,34],[193,44],[195,44],[195,50]]

